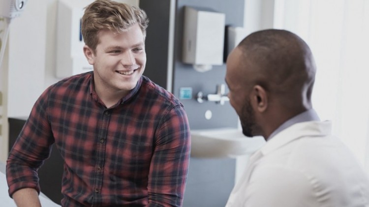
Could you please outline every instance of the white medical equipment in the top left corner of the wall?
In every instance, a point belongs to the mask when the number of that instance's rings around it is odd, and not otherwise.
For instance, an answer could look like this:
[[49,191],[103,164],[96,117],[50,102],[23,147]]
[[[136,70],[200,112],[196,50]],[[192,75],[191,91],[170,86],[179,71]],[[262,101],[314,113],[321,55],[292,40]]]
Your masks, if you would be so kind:
[[5,52],[10,22],[13,18],[21,15],[27,1],[28,0],[0,0],[0,66]]

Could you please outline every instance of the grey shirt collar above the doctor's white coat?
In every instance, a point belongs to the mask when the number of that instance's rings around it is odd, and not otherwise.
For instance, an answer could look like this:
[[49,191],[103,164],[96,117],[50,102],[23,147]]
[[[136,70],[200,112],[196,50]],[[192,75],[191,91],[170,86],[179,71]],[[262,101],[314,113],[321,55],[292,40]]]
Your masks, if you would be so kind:
[[288,119],[282,125],[280,125],[267,139],[267,141],[271,140],[276,134],[278,134],[283,129],[286,129],[292,126],[295,123],[305,122],[305,121],[319,121],[320,118],[318,114],[316,114],[314,109],[309,109],[301,114],[296,115],[293,118]]

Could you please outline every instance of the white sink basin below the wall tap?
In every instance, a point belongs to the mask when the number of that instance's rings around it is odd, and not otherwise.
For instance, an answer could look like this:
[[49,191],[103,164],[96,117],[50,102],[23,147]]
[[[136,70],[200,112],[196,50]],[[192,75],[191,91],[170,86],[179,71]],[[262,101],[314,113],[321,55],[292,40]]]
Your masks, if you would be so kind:
[[236,128],[191,130],[192,157],[236,158],[250,154],[264,144],[263,137],[249,138]]

